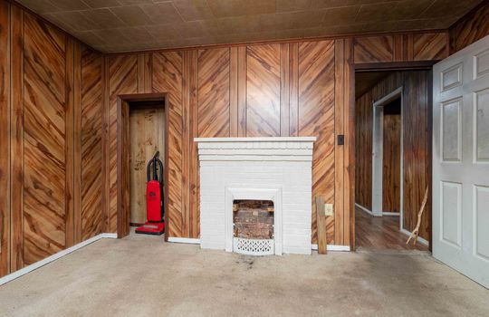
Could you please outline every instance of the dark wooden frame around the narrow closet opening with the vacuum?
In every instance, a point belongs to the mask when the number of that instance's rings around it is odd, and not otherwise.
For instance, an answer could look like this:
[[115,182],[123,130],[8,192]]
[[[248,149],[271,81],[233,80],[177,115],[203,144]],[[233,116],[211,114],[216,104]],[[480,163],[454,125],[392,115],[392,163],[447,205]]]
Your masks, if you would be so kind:
[[[117,237],[129,235],[129,150],[125,142],[125,129],[129,130],[128,121],[124,122],[123,112],[129,116],[129,102],[134,101],[163,101],[165,110],[165,158],[164,158],[164,181],[163,202],[165,208],[165,241],[168,241],[168,117],[169,117],[169,94],[158,93],[135,93],[121,94],[117,96]],[[129,118],[128,118],[129,120]],[[124,163],[127,163],[124,166]],[[127,176],[127,177],[125,177]]]

